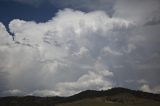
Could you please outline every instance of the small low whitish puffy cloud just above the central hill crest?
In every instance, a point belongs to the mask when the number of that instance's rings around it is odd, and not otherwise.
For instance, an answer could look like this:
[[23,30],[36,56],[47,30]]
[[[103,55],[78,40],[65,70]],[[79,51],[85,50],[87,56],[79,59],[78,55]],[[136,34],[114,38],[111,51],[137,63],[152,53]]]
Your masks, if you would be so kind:
[[64,93],[65,95],[73,95],[76,92],[88,89],[95,89],[95,90],[109,89],[113,85],[110,81],[105,80],[104,77],[112,76],[113,74],[109,71],[103,71],[103,73],[104,75],[96,74],[95,72],[89,71],[88,74],[82,75],[76,82],[59,83],[56,89],[58,89],[61,93]]

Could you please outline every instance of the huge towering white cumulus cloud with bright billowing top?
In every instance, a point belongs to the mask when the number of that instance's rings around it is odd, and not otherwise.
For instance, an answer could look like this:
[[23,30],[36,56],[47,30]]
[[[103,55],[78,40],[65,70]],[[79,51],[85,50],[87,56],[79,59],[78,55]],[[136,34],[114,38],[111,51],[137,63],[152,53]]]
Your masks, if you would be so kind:
[[103,11],[72,9],[59,11],[46,23],[11,21],[15,41],[1,25],[1,73],[6,73],[2,81],[7,79],[9,90],[3,93],[70,95],[112,87],[114,73],[105,61],[107,55],[121,54],[116,45],[126,36],[121,30],[130,26],[132,22],[109,18]]

